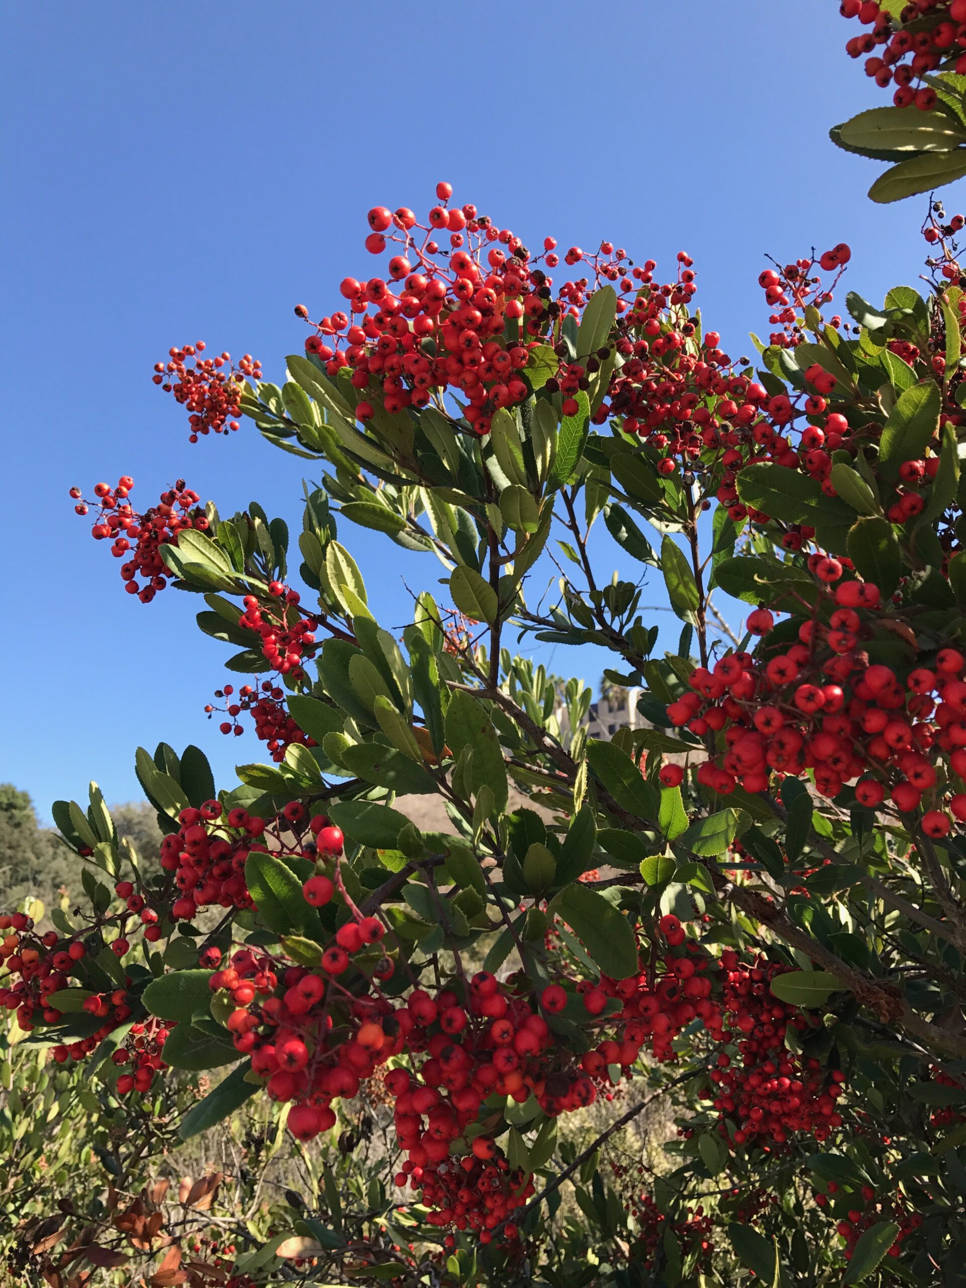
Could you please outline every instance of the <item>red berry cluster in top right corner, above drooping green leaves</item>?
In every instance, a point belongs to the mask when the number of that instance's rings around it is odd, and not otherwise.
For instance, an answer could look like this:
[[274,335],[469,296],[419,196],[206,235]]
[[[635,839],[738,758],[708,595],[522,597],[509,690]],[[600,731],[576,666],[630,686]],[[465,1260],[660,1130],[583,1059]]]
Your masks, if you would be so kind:
[[909,0],[898,15],[880,0],[841,0],[840,13],[872,28],[848,40],[845,52],[866,55],[866,75],[880,89],[895,85],[896,107],[931,112],[936,91],[922,84],[929,73],[947,66],[966,72],[966,0]]

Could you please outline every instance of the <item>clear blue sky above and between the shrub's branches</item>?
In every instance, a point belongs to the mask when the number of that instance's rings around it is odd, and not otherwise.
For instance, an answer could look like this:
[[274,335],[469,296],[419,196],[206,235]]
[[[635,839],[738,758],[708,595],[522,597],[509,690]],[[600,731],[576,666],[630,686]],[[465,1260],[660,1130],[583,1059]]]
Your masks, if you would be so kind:
[[[138,795],[138,743],[198,742],[227,783],[258,760],[202,715],[225,650],[194,596],[142,605],[67,496],[130,473],[134,500],[188,479],[223,513],[299,520],[300,462],[245,424],[188,443],[149,380],[171,344],[260,357],[278,380],[292,307],[336,303],[376,204],[439,179],[533,243],[601,237],[668,270],[696,259],[706,323],[737,355],[768,330],[770,251],[854,249],[872,300],[913,281],[921,204],[873,206],[880,166],[828,126],[887,102],[844,54],[837,0],[421,0],[328,5],[100,0],[4,15],[4,523],[0,781],[41,814],[95,778]],[[952,207],[951,207],[952,209]],[[308,462],[307,462],[308,464]],[[345,526],[349,528],[349,526]],[[603,527],[603,526],[601,526]],[[385,625],[410,618],[402,551],[352,529]],[[599,556],[635,574],[604,535]],[[430,555],[406,563],[435,586]],[[420,580],[422,578],[422,580]],[[659,578],[645,601],[666,603]],[[676,636],[666,614],[665,638]],[[596,681],[600,658],[555,668]],[[571,663],[571,665],[568,665]]]

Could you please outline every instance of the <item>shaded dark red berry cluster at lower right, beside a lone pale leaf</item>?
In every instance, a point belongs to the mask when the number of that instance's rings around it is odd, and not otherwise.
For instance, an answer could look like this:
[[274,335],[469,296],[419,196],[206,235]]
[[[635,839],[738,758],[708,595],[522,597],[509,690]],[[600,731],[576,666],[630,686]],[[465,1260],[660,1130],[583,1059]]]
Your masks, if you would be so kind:
[[737,1064],[721,1052],[708,1074],[721,1136],[735,1145],[769,1146],[800,1133],[827,1140],[842,1124],[836,1101],[845,1075],[838,1069],[829,1074],[819,1060],[786,1047],[790,1028],[800,1036],[809,1029],[806,1016],[769,988],[786,967],[764,958],[743,962],[732,949],[721,953],[720,965],[723,1006],[741,1056]]

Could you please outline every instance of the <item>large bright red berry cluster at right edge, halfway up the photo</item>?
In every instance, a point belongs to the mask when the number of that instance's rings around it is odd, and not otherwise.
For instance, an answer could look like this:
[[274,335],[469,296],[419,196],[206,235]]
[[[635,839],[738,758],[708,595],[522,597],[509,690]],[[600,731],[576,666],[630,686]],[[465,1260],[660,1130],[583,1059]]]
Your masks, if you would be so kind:
[[[698,667],[692,692],[667,707],[674,725],[701,737],[725,732],[728,750],[698,766],[698,782],[724,795],[741,783],[766,791],[772,774],[814,770],[815,788],[835,797],[859,778],[855,797],[866,808],[889,795],[902,813],[930,806],[922,819],[929,836],[944,836],[951,819],[939,808],[945,783],[936,773],[944,752],[953,774],[966,775],[966,659],[940,649],[929,666],[903,680],[891,667],[871,665],[860,647],[863,614],[880,608],[878,587],[841,581],[842,562],[811,556],[819,583],[838,581],[828,626],[814,611],[799,627],[799,640],[783,652],[753,657],[729,653],[712,670]],[[768,634],[774,616],[759,608],[748,630]],[[966,795],[948,801],[966,819]]]

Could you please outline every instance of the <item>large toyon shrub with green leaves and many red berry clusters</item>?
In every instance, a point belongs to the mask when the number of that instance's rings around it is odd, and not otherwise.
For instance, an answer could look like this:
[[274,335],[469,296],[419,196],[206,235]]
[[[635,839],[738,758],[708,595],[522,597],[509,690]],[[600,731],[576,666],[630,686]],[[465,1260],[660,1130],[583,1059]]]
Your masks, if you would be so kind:
[[[193,438],[310,462],[298,540],[183,480],[72,495],[131,595],[204,603],[250,677],[206,711],[270,762],[139,750],[157,854],[95,787],[54,805],[86,899],[0,917],[23,1041],[120,1123],[204,1073],[182,1139],[276,1103],[325,1159],[377,1096],[367,1208],[272,1231],[326,1282],[965,1283],[962,223],[881,307],[831,312],[844,243],[775,263],[734,361],[687,254],[533,250],[440,183],[368,213],[374,276],[295,309],[281,385],[173,349]],[[442,582],[401,632],[353,524]],[[607,649],[634,726],[589,737],[520,640]],[[281,1245],[197,1282],[281,1282]]]

